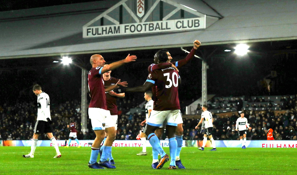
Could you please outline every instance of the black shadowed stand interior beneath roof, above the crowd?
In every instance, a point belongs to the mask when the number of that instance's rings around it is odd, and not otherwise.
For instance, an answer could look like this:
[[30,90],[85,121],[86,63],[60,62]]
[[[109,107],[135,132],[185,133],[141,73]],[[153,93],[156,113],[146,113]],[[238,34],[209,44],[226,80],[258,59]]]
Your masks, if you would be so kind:
[[[297,40],[279,42],[248,43],[248,55],[239,57],[233,53],[236,44],[201,46],[197,55],[214,54],[207,59],[208,94],[218,96],[254,96],[268,95],[260,86],[263,78],[277,71],[271,95],[296,94],[297,83],[296,51]],[[187,47],[190,50],[192,47]],[[230,49],[231,52],[224,52]],[[185,58],[187,55],[180,48],[168,49],[173,61]],[[147,67],[153,62],[157,50],[126,51],[116,53],[102,53],[107,62],[124,59],[128,53],[138,56],[134,63],[126,64],[112,72],[112,76],[128,81],[129,87],[142,85],[148,75]],[[89,58],[92,54],[69,55],[75,62],[84,62],[86,69],[90,69]],[[22,58],[0,60],[1,97],[11,99],[35,99],[31,93],[31,86],[39,83],[45,91],[52,94],[56,101],[66,99],[80,99],[81,70],[73,65],[62,66],[53,63],[58,57]],[[16,64],[17,63],[17,64]],[[17,66],[16,66],[17,65]],[[191,62],[179,69],[182,83],[179,86],[181,100],[201,97],[201,61],[193,58]],[[132,96],[132,94],[130,95]],[[142,97],[142,94],[136,96]]]

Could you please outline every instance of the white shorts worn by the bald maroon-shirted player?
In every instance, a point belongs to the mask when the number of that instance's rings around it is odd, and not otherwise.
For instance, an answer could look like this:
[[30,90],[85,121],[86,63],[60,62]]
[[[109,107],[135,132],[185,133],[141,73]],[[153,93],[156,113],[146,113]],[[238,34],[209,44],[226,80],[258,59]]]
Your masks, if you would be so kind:
[[110,117],[110,111],[101,108],[89,108],[89,119],[91,119],[93,130],[105,130],[106,125],[114,126],[114,123],[106,123],[107,117]]

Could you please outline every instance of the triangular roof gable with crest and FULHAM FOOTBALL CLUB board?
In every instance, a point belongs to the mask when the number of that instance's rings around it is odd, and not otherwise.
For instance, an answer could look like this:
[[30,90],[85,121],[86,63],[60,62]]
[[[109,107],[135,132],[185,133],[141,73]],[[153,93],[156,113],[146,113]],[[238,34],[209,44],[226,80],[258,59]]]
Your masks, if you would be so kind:
[[205,14],[171,0],[121,0],[85,24],[83,38],[201,30],[205,27]]

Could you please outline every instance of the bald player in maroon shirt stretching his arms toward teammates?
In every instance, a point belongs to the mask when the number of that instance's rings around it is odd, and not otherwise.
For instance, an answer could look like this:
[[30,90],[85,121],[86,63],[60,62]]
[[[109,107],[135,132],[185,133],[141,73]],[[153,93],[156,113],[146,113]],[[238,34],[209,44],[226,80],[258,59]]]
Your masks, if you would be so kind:
[[[136,61],[136,59],[137,57],[135,55],[129,54],[124,60],[104,66],[105,60],[102,55],[96,54],[91,56],[90,63],[92,65],[92,69],[89,71],[88,75],[88,86],[91,97],[89,105],[89,118],[91,119],[92,129],[96,134],[96,138],[91,146],[91,157],[88,162],[88,166],[90,168],[116,168],[116,166],[111,165],[107,160],[111,152],[111,146],[113,143],[113,138],[116,135],[116,130],[114,123],[110,122],[110,120],[105,120],[105,118],[110,117],[110,111],[107,110],[105,92],[119,87],[127,87],[127,82],[121,82],[120,79],[115,85],[104,87],[102,74],[116,69],[125,63]],[[104,139],[105,132],[107,133],[107,136],[110,137],[107,137],[104,144],[102,145],[102,155],[99,163],[97,163],[100,144]]]

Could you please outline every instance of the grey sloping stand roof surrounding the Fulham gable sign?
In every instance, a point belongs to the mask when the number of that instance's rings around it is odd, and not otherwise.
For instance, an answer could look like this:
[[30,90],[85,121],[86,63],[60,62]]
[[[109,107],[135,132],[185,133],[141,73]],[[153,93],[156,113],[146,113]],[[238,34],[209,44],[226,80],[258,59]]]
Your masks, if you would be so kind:
[[204,45],[297,39],[297,1],[173,1],[208,15],[212,24],[199,31],[86,39],[83,25],[119,1],[6,11],[0,12],[0,59],[186,47],[193,39]]

